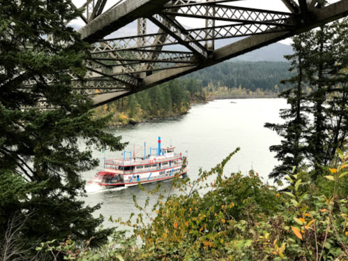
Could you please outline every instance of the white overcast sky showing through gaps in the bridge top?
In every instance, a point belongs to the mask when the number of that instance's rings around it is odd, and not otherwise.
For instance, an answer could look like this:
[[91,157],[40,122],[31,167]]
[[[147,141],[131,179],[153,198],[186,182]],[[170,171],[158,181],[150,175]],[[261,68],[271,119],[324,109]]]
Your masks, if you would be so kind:
[[[126,0],[123,0],[126,1]],[[298,0],[296,0],[298,1]],[[308,0],[311,1],[311,0]],[[330,3],[337,2],[339,0],[330,0]],[[73,0],[73,3],[75,3],[75,6],[80,7],[82,6],[86,0]],[[108,0],[105,9],[107,10],[114,6],[115,3],[119,2],[119,0]],[[235,1],[233,4],[232,3],[227,3],[230,6],[243,6],[243,7],[249,7],[249,8],[258,8],[258,9],[266,9],[266,10],[277,10],[277,11],[283,11],[283,12],[289,12],[289,10],[286,8],[284,3],[282,3],[281,0],[244,0],[244,1]],[[199,28],[199,27],[204,27],[205,22],[204,20],[200,19],[192,19],[192,18],[187,18],[187,17],[178,17],[177,20],[181,22],[186,27],[191,27],[191,28]],[[80,26],[84,25],[84,22],[82,20],[76,20],[74,21],[75,24],[78,24]],[[223,22],[217,22],[216,25],[222,25],[224,24]],[[226,24],[226,23],[225,23]],[[280,43],[285,43],[285,44],[290,44],[291,40],[282,40]]]

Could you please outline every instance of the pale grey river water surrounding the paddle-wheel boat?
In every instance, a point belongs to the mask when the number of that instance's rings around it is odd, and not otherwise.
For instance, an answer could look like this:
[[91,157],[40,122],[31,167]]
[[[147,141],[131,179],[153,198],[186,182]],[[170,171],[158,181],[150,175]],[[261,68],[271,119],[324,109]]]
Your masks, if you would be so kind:
[[[234,103],[232,103],[232,101]],[[264,128],[266,122],[278,123],[279,110],[287,107],[283,99],[243,99],[243,100],[215,100],[206,104],[193,105],[190,112],[175,119],[156,120],[137,126],[112,128],[106,130],[114,135],[121,135],[123,142],[130,142],[126,151],[133,151],[137,156],[144,155],[144,142],[146,154],[149,148],[158,146],[158,136],[162,145],[172,144],[176,152],[188,154],[190,171],[187,177],[196,179],[199,168],[210,170],[215,167],[234,149],[241,147],[225,167],[225,174],[238,172],[246,174],[251,168],[267,181],[268,174],[277,164],[275,154],[269,151],[273,144],[280,143],[280,137],[271,130]],[[137,152],[139,151],[139,152]],[[186,151],[188,151],[186,153]],[[93,151],[93,156],[100,159],[100,166],[91,172],[86,172],[83,178],[89,180],[96,172],[103,170],[103,158],[121,158],[121,152],[105,154]],[[212,177],[213,179],[213,177]],[[170,190],[172,181],[162,182],[162,188]],[[272,180],[268,181],[273,184]],[[154,188],[156,184],[148,184],[146,188]],[[125,218],[130,213],[137,213],[134,207],[133,195],[139,202],[144,202],[148,196],[137,187],[100,190],[96,186],[87,185],[86,204],[91,206],[103,203],[95,216],[105,216],[105,227],[114,226],[108,221],[113,218]],[[150,198],[150,204],[156,197]]]

